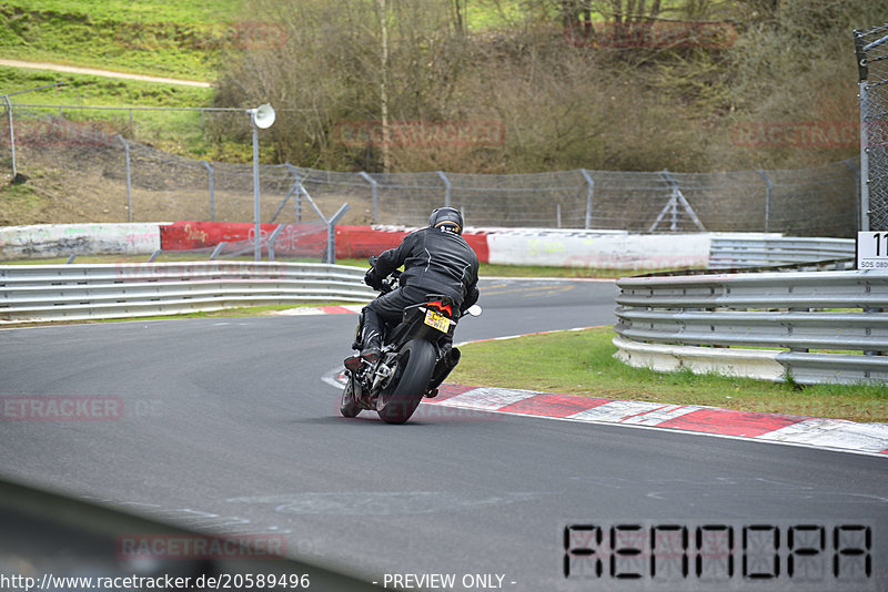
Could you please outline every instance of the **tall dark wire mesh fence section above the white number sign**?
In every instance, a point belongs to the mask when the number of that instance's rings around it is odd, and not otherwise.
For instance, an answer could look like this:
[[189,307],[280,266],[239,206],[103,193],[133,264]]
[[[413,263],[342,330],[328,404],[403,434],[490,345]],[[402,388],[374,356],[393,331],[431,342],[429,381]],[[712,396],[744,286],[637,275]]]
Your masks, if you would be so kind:
[[860,74],[861,228],[888,229],[888,23],[855,31]]

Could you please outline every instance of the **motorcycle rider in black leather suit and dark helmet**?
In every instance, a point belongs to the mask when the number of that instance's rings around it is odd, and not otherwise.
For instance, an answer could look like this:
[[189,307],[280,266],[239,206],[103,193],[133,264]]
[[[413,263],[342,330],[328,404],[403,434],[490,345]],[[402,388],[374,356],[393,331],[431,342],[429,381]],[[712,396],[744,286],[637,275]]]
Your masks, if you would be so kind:
[[[404,266],[400,287],[379,296],[361,312],[360,338],[352,344],[361,357],[375,363],[381,356],[384,324],[396,325],[404,308],[426,302],[426,295],[453,298],[464,313],[478,299],[478,257],[463,238],[463,215],[454,207],[438,207],[428,217],[428,226],[410,233],[400,246],[383,252],[364,275],[374,289],[382,287],[389,274]],[[455,367],[458,350],[447,354],[447,366]],[[454,359],[455,358],[455,359]],[[450,370],[448,370],[450,371]]]

